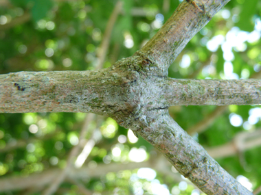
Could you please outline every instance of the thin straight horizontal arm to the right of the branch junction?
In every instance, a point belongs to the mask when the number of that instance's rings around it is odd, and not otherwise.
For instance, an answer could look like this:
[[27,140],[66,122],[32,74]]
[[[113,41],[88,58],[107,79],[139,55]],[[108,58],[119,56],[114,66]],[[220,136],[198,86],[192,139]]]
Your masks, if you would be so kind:
[[261,104],[261,80],[169,79],[165,97],[170,105]]

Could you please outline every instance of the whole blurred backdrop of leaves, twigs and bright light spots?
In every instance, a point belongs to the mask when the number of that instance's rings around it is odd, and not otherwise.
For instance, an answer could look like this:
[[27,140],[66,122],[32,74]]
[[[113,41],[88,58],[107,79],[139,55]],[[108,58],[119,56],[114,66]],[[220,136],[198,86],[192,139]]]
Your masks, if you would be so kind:
[[[0,73],[107,68],[139,50],[179,3],[0,0]],[[261,79],[260,15],[261,1],[229,2],[183,49],[169,77]],[[261,185],[260,106],[169,112],[242,185]],[[52,193],[203,194],[111,118],[0,114],[0,194]]]

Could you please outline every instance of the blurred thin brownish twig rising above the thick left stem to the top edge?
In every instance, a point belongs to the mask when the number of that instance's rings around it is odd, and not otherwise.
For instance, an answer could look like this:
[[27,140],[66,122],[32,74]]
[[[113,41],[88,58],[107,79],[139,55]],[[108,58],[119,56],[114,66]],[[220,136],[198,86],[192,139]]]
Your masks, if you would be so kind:
[[106,25],[104,37],[102,38],[102,44],[97,53],[97,56],[98,56],[97,68],[98,69],[102,69],[106,53],[109,49],[109,43],[111,40],[111,32],[113,31],[113,26],[115,25],[117,16],[120,14],[121,10],[122,10],[122,1],[117,1],[115,8],[114,8],[113,12],[111,13],[109,21]]

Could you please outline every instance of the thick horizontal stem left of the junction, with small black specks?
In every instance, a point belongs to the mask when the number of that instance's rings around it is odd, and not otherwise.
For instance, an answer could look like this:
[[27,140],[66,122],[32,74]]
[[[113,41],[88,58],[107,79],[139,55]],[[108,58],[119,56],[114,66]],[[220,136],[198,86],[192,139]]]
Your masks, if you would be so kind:
[[135,71],[114,67],[0,75],[0,112],[93,112],[109,116],[133,108],[126,93],[133,93],[130,89],[136,77]]

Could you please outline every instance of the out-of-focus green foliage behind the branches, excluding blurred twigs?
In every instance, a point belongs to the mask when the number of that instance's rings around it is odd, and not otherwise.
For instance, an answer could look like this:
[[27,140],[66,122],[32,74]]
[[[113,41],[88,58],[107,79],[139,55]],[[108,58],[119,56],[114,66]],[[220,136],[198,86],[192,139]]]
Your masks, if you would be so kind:
[[[12,23],[15,18],[27,12],[30,13],[31,18],[30,21],[19,23],[4,31],[1,30],[2,25],[0,25],[1,74],[22,70],[95,68],[106,23],[116,1],[10,0],[10,2],[12,6],[9,8],[0,6],[0,17],[7,18],[7,23]],[[179,5],[179,1],[169,2],[166,9],[163,8],[163,1],[124,0],[122,13],[113,27],[104,67],[111,66],[122,57],[133,55],[152,38]],[[236,42],[240,44],[233,42],[231,60],[224,57],[225,49],[229,47],[229,44],[224,43],[233,38],[228,36],[233,30],[236,31],[233,36],[236,36],[245,33],[244,31],[253,33],[256,27],[256,36],[258,34],[260,36],[260,26],[258,27],[258,24],[261,25],[260,6],[260,1],[257,0],[230,1],[225,9],[216,14],[181,51],[169,68],[169,76],[231,79],[225,74],[225,62],[231,62],[233,73],[238,76],[238,79],[248,79],[258,73],[261,70],[260,38],[242,41],[237,37]],[[135,10],[137,8],[139,10]],[[211,40],[216,36],[222,37],[223,41],[217,44],[216,49],[209,49],[214,47],[215,43]],[[254,37],[255,34],[251,34],[251,38]],[[133,41],[133,45],[128,46],[130,40]],[[193,138],[205,147],[214,147],[232,141],[239,132],[255,131],[261,127],[260,118],[253,124],[249,123],[250,111],[255,107],[260,108],[251,105],[229,106],[229,109],[216,118],[205,132],[194,135]],[[188,129],[212,114],[215,108],[215,106],[170,107],[170,115],[183,129]],[[239,127],[231,125],[229,120],[231,114],[237,114],[242,118]],[[25,143],[23,146],[0,153],[1,178],[14,175],[24,177],[49,168],[65,168],[69,151],[78,142],[84,117],[85,114],[71,113],[0,114],[0,152],[1,149],[12,144],[16,145],[15,143],[20,141]],[[91,130],[93,129],[98,129],[101,139],[92,149],[85,166],[95,168],[99,164],[128,164],[131,162],[129,154],[133,148],[146,151],[148,155],[146,159],[158,158],[154,148],[141,137],[137,142],[130,142],[128,129],[120,127],[111,118],[102,118],[101,121],[95,118],[91,122]],[[90,138],[89,133],[86,139]],[[118,152],[120,149],[119,156],[113,155],[115,148]],[[218,162],[234,177],[242,174],[250,179],[253,187],[261,185],[260,146],[232,157],[220,158]],[[180,190],[177,181],[161,172],[157,172],[157,177],[153,181],[148,181],[137,177],[137,171],[109,172],[99,178],[82,179],[81,182],[92,192],[101,194],[113,194],[117,190],[118,194],[138,194],[137,190],[143,190],[144,194],[152,194],[151,187],[155,183],[165,183],[172,194],[192,193],[192,185],[188,185],[185,190]],[[68,181],[65,181],[61,188],[67,189],[67,194],[78,193],[76,185]],[[21,192],[12,192],[12,194],[21,194]]]

